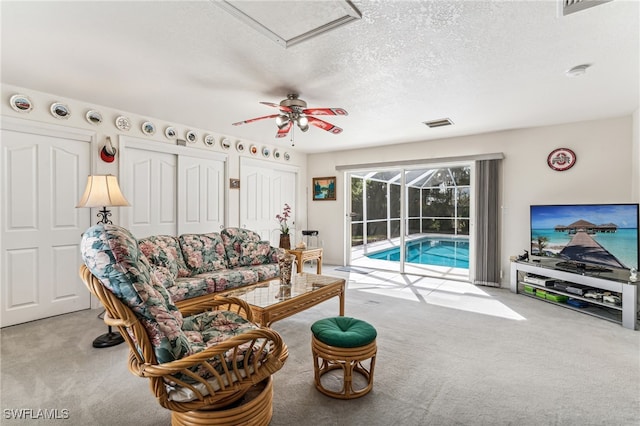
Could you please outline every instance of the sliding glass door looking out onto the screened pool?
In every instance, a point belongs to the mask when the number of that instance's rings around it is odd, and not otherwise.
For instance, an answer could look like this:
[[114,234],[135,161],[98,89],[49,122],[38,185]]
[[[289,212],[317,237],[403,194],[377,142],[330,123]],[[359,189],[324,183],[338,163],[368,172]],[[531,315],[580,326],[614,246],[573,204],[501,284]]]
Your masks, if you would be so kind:
[[351,264],[469,279],[471,165],[354,171]]

